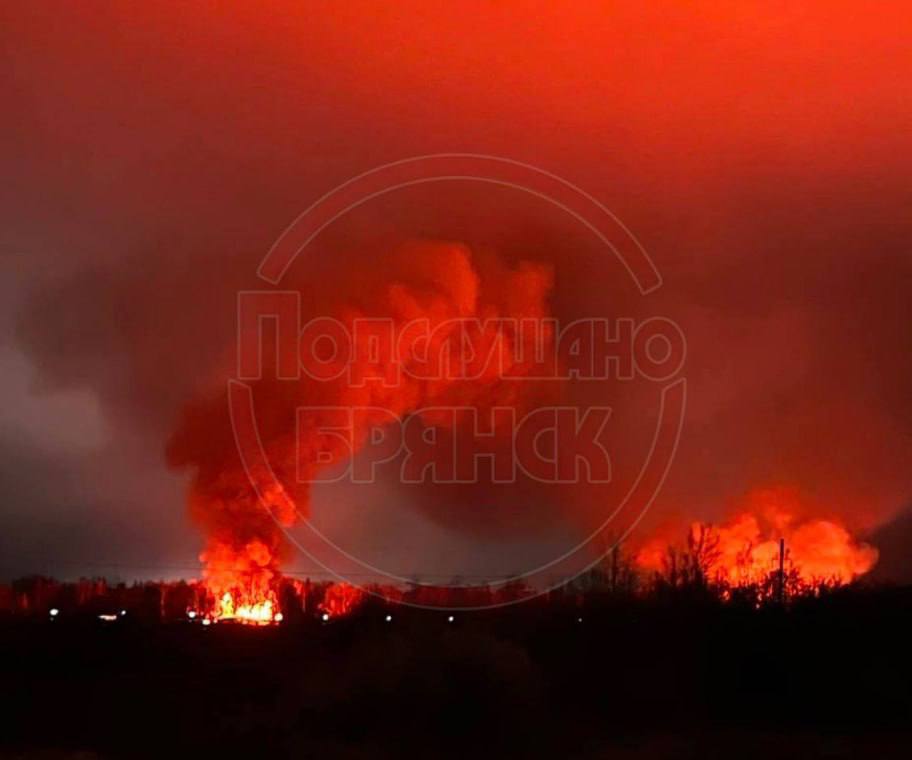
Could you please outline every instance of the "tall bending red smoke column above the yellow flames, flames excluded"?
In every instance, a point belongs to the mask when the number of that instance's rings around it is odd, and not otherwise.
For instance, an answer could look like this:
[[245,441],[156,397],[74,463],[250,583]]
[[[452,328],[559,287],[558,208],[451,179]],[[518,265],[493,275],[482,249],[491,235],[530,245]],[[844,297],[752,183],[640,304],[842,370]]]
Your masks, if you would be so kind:
[[[262,377],[252,388],[262,420],[256,431],[267,459],[262,465],[242,461],[248,441],[237,423],[228,424],[226,394],[188,406],[169,458],[174,466],[193,470],[191,512],[206,534],[202,559],[216,596],[262,597],[290,553],[284,528],[310,514],[311,482],[363,449],[372,431],[395,426],[408,415],[429,426],[459,424],[447,408],[471,409],[483,418],[495,407],[522,413],[527,399],[536,395],[538,389],[526,382],[526,375],[534,358],[550,347],[547,336],[493,325],[498,320],[541,321],[548,315],[547,269],[526,264],[495,273],[489,268],[483,276],[468,248],[447,243],[412,243],[390,259],[379,257],[370,268],[368,279],[377,285],[368,292],[346,292],[351,283],[343,281],[336,286],[338,302],[330,297],[324,304],[329,311],[305,313],[290,332],[280,326],[266,336],[257,323],[241,333],[242,343],[255,346],[253,351],[268,365],[258,369]],[[335,290],[322,285],[324,295]],[[309,290],[305,286],[300,295],[306,297]],[[262,313],[273,312],[264,308]],[[338,375],[333,370],[332,376],[321,374],[327,362],[316,348],[306,353],[309,344],[298,340],[299,325],[327,319],[344,335],[335,353],[350,352],[339,359]],[[366,319],[389,325],[389,332],[359,331],[357,325]],[[471,379],[452,371],[465,354],[460,328],[466,324],[480,327],[473,348],[479,357],[489,357]],[[400,352],[403,337],[422,326],[423,350]],[[377,352],[372,342],[384,335],[389,338],[386,349],[379,349],[379,359],[372,357]],[[264,347],[261,341],[270,337]],[[419,354],[423,363],[434,365],[420,375],[415,371]],[[284,358],[275,357],[289,355],[293,366],[304,365],[295,382],[277,373],[276,364]],[[352,410],[350,422],[338,419],[340,409]],[[323,432],[339,427],[348,428],[349,435]],[[503,445],[512,443],[511,433]]]

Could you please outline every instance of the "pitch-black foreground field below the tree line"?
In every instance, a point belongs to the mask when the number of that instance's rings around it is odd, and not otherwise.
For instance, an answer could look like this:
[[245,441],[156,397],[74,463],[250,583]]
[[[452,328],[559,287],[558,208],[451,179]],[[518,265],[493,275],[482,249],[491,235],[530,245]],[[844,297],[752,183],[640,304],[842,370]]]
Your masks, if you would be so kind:
[[906,758],[910,633],[906,589],[452,623],[7,620],[0,756]]

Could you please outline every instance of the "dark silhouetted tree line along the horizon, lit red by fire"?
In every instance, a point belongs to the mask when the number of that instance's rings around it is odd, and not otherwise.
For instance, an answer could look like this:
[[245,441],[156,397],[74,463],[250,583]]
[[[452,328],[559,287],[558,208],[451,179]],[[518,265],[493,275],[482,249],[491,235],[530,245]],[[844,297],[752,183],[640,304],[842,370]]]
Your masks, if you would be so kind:
[[[670,545],[660,570],[644,570],[623,546],[615,546],[592,569],[547,593],[536,594],[521,579],[505,583],[466,584],[456,577],[446,585],[422,583],[416,578],[405,587],[368,584],[355,588],[344,583],[284,578],[277,589],[287,623],[319,616],[350,614],[367,605],[405,602],[420,607],[471,608],[509,604],[530,599],[533,606],[549,603],[585,607],[604,599],[650,601],[691,599],[744,604],[759,608],[817,597],[839,587],[833,580],[809,582],[788,566],[750,583],[731,582],[718,571],[719,539],[711,526],[691,530],[686,541]],[[62,582],[43,576],[19,578],[0,584],[0,614],[98,616],[121,611],[141,620],[187,620],[190,611],[212,608],[205,587],[197,581],[144,581],[110,584],[104,578]]]

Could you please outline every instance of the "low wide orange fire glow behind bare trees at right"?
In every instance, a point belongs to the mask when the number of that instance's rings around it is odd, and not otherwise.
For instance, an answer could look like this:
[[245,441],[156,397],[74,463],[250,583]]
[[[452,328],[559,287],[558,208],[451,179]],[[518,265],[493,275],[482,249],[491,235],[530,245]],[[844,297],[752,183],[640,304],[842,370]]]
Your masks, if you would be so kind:
[[[728,587],[759,586],[778,573],[780,539],[783,572],[801,587],[837,586],[864,575],[877,563],[878,552],[856,540],[836,519],[799,517],[802,504],[786,489],[755,491],[748,511],[721,526],[691,525],[683,552],[711,581]],[[637,564],[666,572],[676,549],[653,541],[637,554]]]

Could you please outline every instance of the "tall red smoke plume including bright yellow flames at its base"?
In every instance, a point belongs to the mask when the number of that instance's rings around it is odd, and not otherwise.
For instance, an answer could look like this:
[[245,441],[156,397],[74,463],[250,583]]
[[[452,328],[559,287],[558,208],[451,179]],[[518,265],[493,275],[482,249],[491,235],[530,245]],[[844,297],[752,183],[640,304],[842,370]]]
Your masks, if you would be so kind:
[[[191,514],[207,537],[200,559],[207,588],[214,599],[222,600],[221,612],[216,613],[221,617],[268,620],[274,616],[278,611],[275,588],[279,566],[288,552],[282,527],[295,524],[300,515],[309,512],[309,482],[361,449],[373,427],[416,413],[427,425],[446,426],[447,420],[424,419],[425,414],[417,411],[430,407],[471,407],[481,412],[498,405],[519,409],[531,390],[533,384],[523,384],[522,376],[534,366],[535,357],[548,350],[548,334],[542,330],[505,334],[495,326],[495,320],[509,317],[518,322],[548,315],[545,302],[552,282],[547,267],[521,263],[510,270],[496,264],[489,266],[483,277],[472,252],[451,243],[413,243],[396,252],[393,259],[400,263],[399,277],[388,276],[386,284],[372,296],[358,299],[357,308],[349,302],[350,294],[340,294],[338,302],[332,304],[336,319],[349,328],[365,316],[391,320],[397,339],[394,344],[406,326],[426,320],[432,337],[423,353],[454,366],[470,360],[464,355],[465,342],[449,334],[447,326],[458,320],[483,319],[480,341],[490,346],[495,360],[486,365],[480,377],[471,380],[419,379],[420,373],[397,372],[410,363],[427,361],[417,355],[416,348],[415,355],[396,358],[401,366],[381,368],[386,377],[378,378],[377,367],[368,358],[372,354],[367,342],[371,336],[365,336],[365,345],[355,343],[352,360],[352,371],[365,378],[363,383],[343,378],[317,382],[308,379],[308,373],[300,381],[264,379],[254,383],[257,408],[266,410],[258,435],[269,458],[269,473],[248,472],[239,461],[233,431],[226,426],[224,397],[189,408],[169,454],[174,465],[195,470]],[[287,352],[298,356],[298,336],[291,337],[294,340],[276,346],[279,356]],[[264,353],[270,355],[269,351]],[[306,355],[301,355],[301,361],[305,368],[325,363],[322,357]],[[264,368],[264,378],[269,378],[270,372],[274,378],[271,368]],[[393,376],[396,382],[384,382]],[[305,401],[320,406],[308,404],[313,411],[303,423],[298,421],[295,440],[296,413]],[[331,427],[323,409],[355,406],[376,408],[382,414],[359,419],[348,446],[320,433]],[[270,480],[273,474],[280,485]],[[334,592],[327,602],[332,607],[329,614],[335,615],[337,609],[349,604],[336,595]]]

